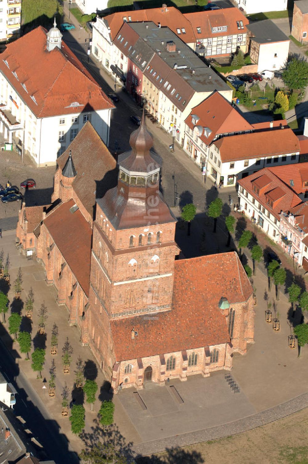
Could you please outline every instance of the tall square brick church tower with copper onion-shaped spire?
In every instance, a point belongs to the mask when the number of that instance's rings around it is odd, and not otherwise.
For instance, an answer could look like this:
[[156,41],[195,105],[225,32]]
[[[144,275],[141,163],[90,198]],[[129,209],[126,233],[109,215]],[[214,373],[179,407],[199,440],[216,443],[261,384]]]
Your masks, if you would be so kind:
[[[97,200],[93,227],[89,338],[94,354],[113,365],[109,321],[171,310],[176,219],[159,191],[161,158],[150,151],[143,116],[119,156],[116,187]],[[107,367],[107,366],[105,366]]]

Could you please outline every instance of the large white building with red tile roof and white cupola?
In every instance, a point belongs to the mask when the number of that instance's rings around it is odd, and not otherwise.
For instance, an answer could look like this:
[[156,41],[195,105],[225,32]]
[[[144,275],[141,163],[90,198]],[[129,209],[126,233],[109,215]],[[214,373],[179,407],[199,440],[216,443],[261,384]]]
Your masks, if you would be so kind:
[[[56,164],[85,122],[108,145],[113,104],[54,27],[8,44],[0,60],[0,132],[37,166]],[[18,142],[19,141],[19,142]]]

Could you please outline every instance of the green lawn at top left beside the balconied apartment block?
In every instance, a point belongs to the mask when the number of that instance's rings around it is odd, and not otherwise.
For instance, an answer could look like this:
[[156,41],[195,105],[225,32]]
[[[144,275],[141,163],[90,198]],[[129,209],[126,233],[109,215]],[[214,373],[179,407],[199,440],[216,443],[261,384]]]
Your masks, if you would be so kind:
[[63,7],[57,0],[22,0],[21,16],[24,23],[24,32],[37,26],[50,29],[56,16],[57,24],[61,22]]

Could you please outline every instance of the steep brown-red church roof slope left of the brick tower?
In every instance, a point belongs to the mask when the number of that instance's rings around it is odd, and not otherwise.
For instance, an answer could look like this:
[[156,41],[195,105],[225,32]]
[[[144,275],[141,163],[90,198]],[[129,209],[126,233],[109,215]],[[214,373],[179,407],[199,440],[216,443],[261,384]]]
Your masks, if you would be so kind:
[[89,295],[92,229],[78,209],[71,213],[74,200],[62,203],[43,223],[60,250],[82,290]]

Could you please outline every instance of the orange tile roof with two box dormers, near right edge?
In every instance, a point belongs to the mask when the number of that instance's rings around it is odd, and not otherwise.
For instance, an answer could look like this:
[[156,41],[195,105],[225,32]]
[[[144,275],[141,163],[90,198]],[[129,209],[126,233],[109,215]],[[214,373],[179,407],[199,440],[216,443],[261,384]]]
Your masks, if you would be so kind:
[[[260,171],[251,174],[245,177],[244,179],[240,179],[238,182],[239,186],[243,187],[248,193],[250,193],[257,200],[258,203],[261,203],[262,206],[264,206],[267,210],[271,211],[275,218],[280,219],[279,214],[281,211],[289,211],[289,209],[293,206],[302,203],[302,200],[295,194],[295,192],[293,192],[291,187],[286,185],[282,180],[279,179],[279,177],[277,177],[277,168],[280,168],[280,166],[277,166],[276,168],[260,169]],[[293,168],[293,164],[283,166],[283,168]],[[274,174],[274,172],[276,175]],[[257,193],[253,191],[253,181],[257,180],[258,182],[258,179],[260,178],[262,181],[262,185],[266,187],[259,195],[257,195]],[[268,183],[268,180],[266,180],[264,183],[264,178],[269,178],[270,183]],[[268,205],[266,202],[267,193],[270,193],[270,196],[273,197],[273,201],[276,201],[280,198],[280,200],[277,201],[277,204],[274,205],[273,208],[270,208],[270,205]]]

